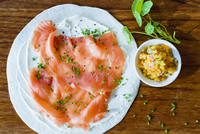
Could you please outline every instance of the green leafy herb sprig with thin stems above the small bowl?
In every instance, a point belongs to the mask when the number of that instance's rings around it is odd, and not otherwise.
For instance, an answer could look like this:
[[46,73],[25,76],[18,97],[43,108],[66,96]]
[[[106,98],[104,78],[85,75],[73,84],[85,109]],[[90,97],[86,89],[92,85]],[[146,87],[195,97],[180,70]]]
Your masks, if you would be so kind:
[[[130,45],[132,42],[133,38],[131,36],[131,33],[138,33],[138,34],[149,35],[156,39],[165,39],[170,42],[180,44],[180,41],[176,39],[175,37],[175,34],[176,34],[175,31],[173,33],[173,36],[171,36],[164,25],[162,25],[159,22],[154,21],[150,17],[149,11],[151,7],[153,6],[153,2],[152,1],[146,1],[144,3],[143,2],[144,0],[134,0],[131,9],[133,12],[133,16],[135,17],[140,27],[142,26],[142,19],[147,23],[147,25],[145,26],[145,32],[138,32],[138,31],[130,32],[128,28],[124,26],[122,30],[122,34],[125,40],[127,41],[127,43]],[[145,15],[148,16],[148,20],[144,18]]]

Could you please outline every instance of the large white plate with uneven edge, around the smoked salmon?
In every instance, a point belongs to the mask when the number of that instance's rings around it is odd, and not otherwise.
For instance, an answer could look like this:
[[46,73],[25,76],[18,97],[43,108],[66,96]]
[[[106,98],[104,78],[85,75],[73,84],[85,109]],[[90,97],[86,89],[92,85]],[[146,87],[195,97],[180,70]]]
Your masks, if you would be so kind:
[[[117,109],[113,109],[113,112],[117,111],[115,116],[112,116],[103,123],[97,122],[97,125],[91,128],[91,130],[88,132],[85,132],[80,129],[66,129],[65,127],[58,127],[55,124],[52,124],[52,122],[50,122],[44,114],[40,114],[37,111],[35,102],[30,96],[28,83],[26,81],[28,78],[28,73],[25,71],[22,73],[19,72],[19,69],[26,70],[26,67],[24,65],[26,65],[28,60],[30,60],[26,59],[26,53],[29,52],[26,48],[28,45],[28,39],[30,38],[34,27],[40,21],[43,20],[52,20],[54,23],[59,23],[63,19],[69,18],[74,15],[87,17],[110,28],[110,30],[115,32],[119,44],[122,44],[121,47],[123,47],[124,51],[128,53],[128,55],[127,53],[125,53],[125,57],[127,58],[127,60],[125,63],[125,72],[123,74],[123,77],[128,78],[129,80],[126,81],[124,79],[122,81],[122,83],[126,84],[124,86],[117,87],[117,91],[114,93],[117,93],[118,96],[112,96],[109,101],[109,104],[115,104],[113,107],[119,107]],[[140,84],[139,78],[135,75],[134,70],[132,69],[133,61],[129,58],[134,56],[137,50],[137,46],[134,40],[131,45],[128,45],[126,43],[126,41],[123,39],[122,28],[123,25],[120,24],[112,15],[110,15],[105,10],[92,7],[82,7],[73,4],[52,7],[40,13],[32,21],[30,21],[14,40],[7,61],[7,79],[9,95],[11,102],[20,118],[31,129],[33,129],[37,133],[42,134],[100,134],[106,132],[107,130],[118,124],[128,112],[128,109],[130,108],[132,102],[134,101],[137,95]],[[128,102],[126,99],[124,99],[123,94],[131,94],[129,98],[131,101]]]

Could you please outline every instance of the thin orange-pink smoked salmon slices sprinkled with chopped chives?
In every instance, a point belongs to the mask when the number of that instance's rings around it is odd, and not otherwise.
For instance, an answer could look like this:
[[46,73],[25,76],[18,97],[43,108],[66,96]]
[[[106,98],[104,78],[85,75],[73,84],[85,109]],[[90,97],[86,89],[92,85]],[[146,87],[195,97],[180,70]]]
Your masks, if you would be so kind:
[[124,54],[114,32],[70,38],[55,36],[52,21],[40,22],[31,41],[40,54],[29,72],[29,86],[39,112],[58,125],[89,129],[107,115],[111,92],[120,84]]

